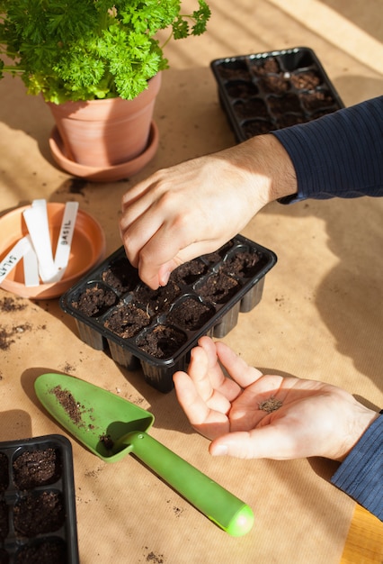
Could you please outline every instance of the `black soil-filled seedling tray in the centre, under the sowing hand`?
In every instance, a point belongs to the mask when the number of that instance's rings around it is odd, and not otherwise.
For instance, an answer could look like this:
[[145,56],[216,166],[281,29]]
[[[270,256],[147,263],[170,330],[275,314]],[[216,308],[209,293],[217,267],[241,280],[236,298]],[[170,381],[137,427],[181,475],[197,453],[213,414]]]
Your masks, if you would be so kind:
[[61,296],[76,318],[80,338],[109,350],[121,366],[141,367],[161,392],[173,388],[202,335],[224,337],[263,294],[265,274],[277,258],[237,235],[217,252],[176,268],[165,287],[152,290],[138,277],[123,247]]

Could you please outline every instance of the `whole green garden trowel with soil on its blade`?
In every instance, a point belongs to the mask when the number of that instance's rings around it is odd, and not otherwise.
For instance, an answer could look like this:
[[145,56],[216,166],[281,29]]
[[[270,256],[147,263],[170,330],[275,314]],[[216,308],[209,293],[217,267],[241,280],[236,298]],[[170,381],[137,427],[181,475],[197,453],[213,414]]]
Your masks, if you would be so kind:
[[42,374],[34,387],[49,414],[102,460],[117,462],[131,452],[224,531],[241,536],[251,530],[248,505],[147,434],[153,414],[63,374]]

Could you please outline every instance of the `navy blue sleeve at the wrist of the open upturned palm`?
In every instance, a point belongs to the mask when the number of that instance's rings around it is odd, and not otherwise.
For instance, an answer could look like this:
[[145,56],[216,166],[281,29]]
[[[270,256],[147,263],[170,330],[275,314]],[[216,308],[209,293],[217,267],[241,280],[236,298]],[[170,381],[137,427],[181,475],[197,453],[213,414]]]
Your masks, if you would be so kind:
[[383,415],[363,433],[331,482],[383,521]]

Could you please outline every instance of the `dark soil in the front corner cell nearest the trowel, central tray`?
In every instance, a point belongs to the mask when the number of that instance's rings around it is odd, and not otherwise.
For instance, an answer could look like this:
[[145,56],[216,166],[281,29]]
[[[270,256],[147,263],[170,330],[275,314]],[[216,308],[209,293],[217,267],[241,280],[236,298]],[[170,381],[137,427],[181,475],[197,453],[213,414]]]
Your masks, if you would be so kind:
[[166,325],[158,325],[145,337],[138,339],[137,345],[156,359],[167,359],[172,357],[186,341],[187,337],[183,332]]

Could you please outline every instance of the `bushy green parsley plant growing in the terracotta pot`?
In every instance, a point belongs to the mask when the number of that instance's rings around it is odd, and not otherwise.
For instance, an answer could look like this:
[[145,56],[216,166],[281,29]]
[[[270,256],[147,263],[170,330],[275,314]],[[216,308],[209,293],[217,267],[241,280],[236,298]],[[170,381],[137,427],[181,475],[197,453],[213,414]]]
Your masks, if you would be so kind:
[[168,68],[167,43],[206,31],[209,5],[182,13],[181,0],[0,0],[0,78],[22,77],[45,100],[131,100]]

